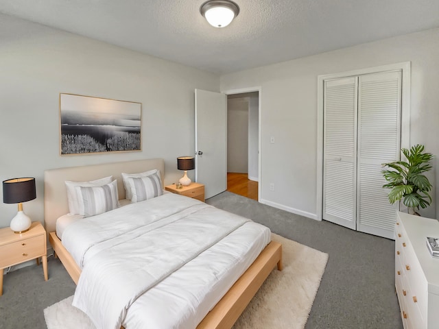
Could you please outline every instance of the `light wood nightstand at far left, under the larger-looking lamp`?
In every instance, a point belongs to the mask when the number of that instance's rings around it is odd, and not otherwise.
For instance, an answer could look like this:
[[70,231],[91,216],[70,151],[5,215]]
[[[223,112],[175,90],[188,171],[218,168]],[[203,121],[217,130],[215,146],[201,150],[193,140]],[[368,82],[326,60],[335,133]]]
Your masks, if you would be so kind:
[[35,259],[43,260],[44,278],[47,281],[46,231],[39,221],[32,222],[27,232],[16,234],[10,228],[0,229],[0,296],[3,294],[3,269]]

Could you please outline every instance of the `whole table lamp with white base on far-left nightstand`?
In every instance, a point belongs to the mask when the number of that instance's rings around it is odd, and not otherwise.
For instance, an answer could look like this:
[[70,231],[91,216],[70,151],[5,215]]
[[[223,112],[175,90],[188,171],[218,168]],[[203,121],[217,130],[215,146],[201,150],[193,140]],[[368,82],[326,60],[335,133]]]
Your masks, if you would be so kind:
[[23,212],[22,202],[36,198],[35,178],[12,178],[3,180],[3,202],[5,204],[19,204],[19,211],[12,219],[10,228],[15,233],[29,230],[32,221]]

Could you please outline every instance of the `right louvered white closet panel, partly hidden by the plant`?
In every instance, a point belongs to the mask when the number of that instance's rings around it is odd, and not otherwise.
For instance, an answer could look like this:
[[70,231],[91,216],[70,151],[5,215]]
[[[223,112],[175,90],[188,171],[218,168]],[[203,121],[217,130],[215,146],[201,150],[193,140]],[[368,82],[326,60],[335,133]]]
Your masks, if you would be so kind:
[[394,239],[381,164],[399,160],[401,72],[359,76],[358,101],[357,230]]

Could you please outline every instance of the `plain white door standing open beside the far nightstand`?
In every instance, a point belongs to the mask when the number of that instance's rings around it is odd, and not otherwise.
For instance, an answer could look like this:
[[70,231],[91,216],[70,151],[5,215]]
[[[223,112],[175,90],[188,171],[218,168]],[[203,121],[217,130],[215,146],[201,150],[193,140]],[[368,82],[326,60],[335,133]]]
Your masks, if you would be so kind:
[[227,189],[227,96],[195,89],[195,181],[207,199]]

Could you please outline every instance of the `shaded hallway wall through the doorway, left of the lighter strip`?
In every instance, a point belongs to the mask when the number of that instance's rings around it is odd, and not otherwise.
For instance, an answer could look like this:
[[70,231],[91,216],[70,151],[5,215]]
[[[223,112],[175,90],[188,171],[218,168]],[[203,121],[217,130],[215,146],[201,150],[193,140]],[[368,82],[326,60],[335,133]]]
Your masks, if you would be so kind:
[[227,172],[248,173],[248,97],[227,99]]

